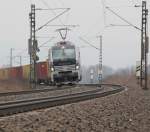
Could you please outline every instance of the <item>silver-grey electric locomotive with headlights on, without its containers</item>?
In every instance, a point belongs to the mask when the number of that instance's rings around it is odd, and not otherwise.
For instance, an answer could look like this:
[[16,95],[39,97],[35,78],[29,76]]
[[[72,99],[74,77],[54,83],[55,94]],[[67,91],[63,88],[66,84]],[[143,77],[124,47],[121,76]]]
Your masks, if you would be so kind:
[[81,80],[79,48],[69,41],[56,43],[49,50],[51,82],[76,83]]

